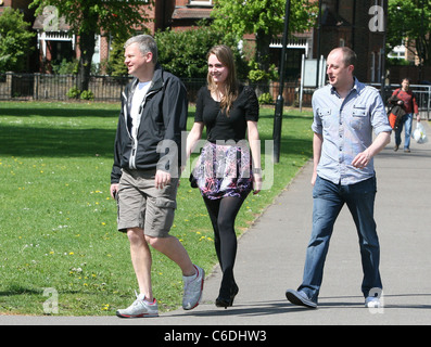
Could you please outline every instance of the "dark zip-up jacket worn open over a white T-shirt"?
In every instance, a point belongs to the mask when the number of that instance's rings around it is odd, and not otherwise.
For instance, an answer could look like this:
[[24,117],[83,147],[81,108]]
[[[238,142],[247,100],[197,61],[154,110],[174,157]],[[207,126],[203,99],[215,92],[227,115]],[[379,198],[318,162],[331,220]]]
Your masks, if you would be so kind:
[[140,106],[141,119],[134,139],[130,110],[138,82],[135,78],[122,94],[111,183],[119,182],[122,169],[162,169],[178,175],[181,131],[186,130],[188,114],[186,87],[178,77],[156,65]]

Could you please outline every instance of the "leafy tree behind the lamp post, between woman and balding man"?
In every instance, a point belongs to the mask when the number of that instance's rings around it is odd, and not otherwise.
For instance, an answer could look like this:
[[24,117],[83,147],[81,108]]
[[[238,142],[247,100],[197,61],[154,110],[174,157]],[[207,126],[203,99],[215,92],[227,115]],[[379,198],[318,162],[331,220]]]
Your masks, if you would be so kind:
[[[256,62],[268,70],[269,44],[283,33],[286,0],[216,0],[212,16],[214,25],[237,39],[245,34],[256,37]],[[309,29],[317,17],[317,4],[307,0],[292,0],[289,34]]]

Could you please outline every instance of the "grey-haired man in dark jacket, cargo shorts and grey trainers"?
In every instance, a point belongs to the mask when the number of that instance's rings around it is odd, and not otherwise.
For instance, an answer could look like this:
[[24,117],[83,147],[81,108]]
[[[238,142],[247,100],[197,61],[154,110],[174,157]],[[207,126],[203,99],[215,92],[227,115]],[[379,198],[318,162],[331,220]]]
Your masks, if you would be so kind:
[[181,268],[182,307],[190,310],[199,305],[204,271],[191,262],[179,240],[168,234],[176,208],[178,149],[187,123],[186,88],[157,64],[157,47],[151,36],[139,35],[126,42],[125,64],[135,79],[122,95],[111,195],[117,200],[118,230],[127,232],[130,242],[140,293],[132,305],[117,310],[117,316],[159,316],[149,245]]

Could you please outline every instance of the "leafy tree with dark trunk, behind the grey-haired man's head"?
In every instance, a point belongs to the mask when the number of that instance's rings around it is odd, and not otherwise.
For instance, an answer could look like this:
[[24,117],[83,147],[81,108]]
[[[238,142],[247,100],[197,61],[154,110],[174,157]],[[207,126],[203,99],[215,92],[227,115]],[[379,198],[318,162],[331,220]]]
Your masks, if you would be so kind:
[[149,22],[142,0],[34,0],[36,13],[42,13],[48,5],[55,7],[59,16],[71,26],[71,34],[79,37],[80,59],[77,88],[88,90],[91,61],[94,54],[96,36],[112,34],[131,36],[138,26]]

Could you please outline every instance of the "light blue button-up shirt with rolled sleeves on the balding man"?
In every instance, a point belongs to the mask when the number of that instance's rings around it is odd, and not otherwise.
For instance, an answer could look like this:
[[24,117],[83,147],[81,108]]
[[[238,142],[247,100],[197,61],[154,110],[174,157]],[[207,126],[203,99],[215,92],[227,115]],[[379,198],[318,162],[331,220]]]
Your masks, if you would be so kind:
[[313,94],[314,121],[312,129],[322,134],[317,175],[335,184],[354,184],[375,176],[373,159],[365,168],[352,165],[357,154],[372,143],[372,130],[378,136],[392,131],[379,91],[359,82],[342,100],[327,85]]

